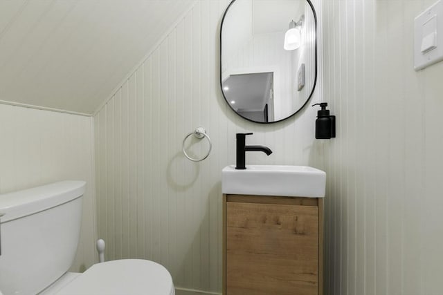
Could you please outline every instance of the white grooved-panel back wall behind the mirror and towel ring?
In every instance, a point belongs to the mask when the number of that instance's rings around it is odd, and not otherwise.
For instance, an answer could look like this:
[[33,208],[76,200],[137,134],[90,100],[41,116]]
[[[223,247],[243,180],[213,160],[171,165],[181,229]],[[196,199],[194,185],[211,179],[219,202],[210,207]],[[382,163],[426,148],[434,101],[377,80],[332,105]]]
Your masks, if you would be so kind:
[[[248,153],[247,163],[321,164],[316,109],[262,125],[224,101],[218,39],[228,2],[197,1],[95,116],[98,233],[107,259],[157,261],[179,289],[221,292],[221,169],[235,162],[235,133],[251,131],[248,144],[274,152]],[[198,126],[213,151],[195,163],[181,142]],[[190,153],[206,153],[204,141],[192,142]]]

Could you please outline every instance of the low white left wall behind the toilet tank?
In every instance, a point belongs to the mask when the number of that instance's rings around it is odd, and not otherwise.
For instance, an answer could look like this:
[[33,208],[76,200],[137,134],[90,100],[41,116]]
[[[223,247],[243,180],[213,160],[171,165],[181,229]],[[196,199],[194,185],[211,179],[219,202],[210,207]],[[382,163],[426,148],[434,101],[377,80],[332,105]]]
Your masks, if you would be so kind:
[[96,262],[93,118],[0,104],[0,193],[85,180],[82,231],[71,271]]

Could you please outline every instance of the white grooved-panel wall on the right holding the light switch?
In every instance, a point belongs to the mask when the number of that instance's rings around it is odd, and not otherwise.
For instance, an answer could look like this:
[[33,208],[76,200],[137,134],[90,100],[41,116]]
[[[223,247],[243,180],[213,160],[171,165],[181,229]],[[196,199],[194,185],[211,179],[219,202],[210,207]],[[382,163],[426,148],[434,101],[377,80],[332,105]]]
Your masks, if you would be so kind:
[[443,63],[413,70],[433,1],[323,1],[327,294],[443,294]]

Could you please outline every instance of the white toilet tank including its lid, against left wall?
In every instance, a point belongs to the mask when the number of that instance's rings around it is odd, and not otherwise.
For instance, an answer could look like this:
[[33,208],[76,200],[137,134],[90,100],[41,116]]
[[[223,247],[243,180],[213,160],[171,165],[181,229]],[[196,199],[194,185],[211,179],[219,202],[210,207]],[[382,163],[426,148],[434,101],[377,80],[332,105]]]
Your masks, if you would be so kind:
[[84,181],[64,181],[0,195],[4,295],[37,294],[71,267],[85,186]]

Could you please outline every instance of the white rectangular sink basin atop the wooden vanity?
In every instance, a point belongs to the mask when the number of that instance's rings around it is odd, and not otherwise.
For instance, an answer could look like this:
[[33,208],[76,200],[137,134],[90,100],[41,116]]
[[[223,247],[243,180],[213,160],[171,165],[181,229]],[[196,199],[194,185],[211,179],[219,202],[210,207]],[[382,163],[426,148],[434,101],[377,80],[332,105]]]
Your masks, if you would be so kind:
[[221,172],[221,192],[236,195],[324,198],[326,173],[309,166],[235,165]]

